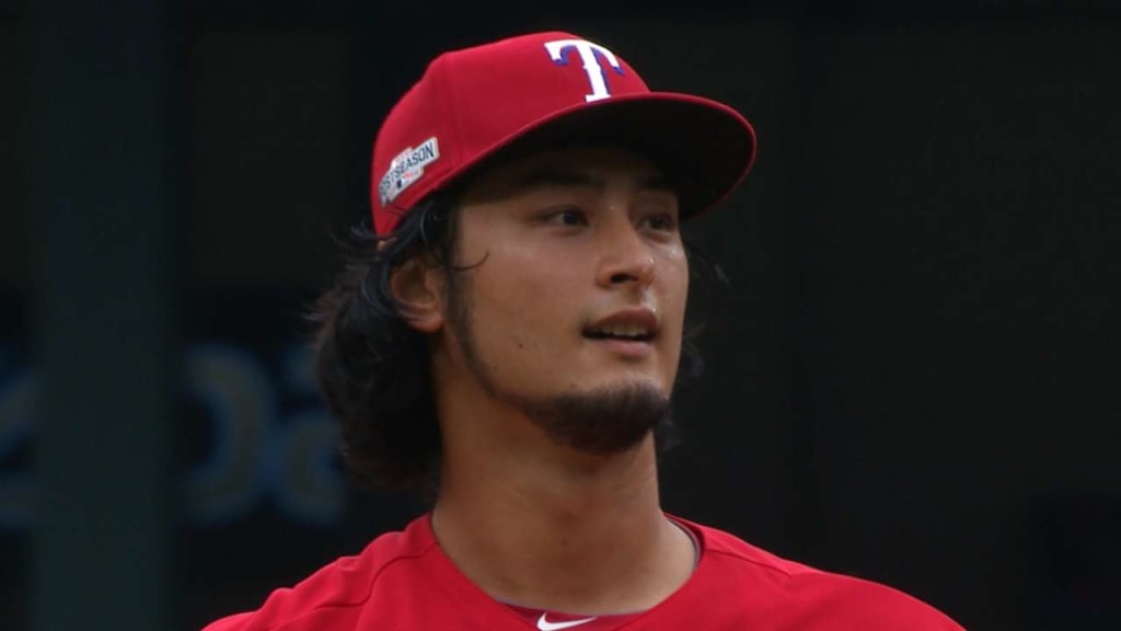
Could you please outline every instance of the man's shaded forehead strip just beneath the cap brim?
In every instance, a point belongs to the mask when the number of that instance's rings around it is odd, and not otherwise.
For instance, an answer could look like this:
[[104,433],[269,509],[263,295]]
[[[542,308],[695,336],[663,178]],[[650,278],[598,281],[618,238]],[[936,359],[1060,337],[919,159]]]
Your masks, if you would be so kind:
[[638,153],[615,147],[577,146],[507,159],[473,177],[461,199],[470,202],[534,189],[603,189],[609,184],[634,190],[673,190],[665,173]]

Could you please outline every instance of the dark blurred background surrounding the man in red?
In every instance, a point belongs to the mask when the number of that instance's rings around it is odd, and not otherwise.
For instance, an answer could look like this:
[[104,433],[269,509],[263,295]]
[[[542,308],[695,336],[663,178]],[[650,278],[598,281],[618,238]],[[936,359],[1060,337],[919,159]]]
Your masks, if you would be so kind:
[[427,62],[553,28],[759,135],[666,507],[1121,629],[1105,0],[0,0],[0,629],[198,629],[424,510],[348,485],[304,314]]

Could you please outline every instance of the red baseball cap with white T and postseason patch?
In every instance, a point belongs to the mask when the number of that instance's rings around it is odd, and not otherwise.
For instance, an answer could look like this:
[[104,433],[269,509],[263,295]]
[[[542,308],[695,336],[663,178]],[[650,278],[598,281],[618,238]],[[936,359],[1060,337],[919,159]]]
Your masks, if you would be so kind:
[[695,214],[740,183],[756,154],[751,125],[708,99],[652,92],[621,57],[568,33],[502,39],[434,60],[393,107],[373,145],[373,223],[401,216],[484,161],[560,145],[633,149],[674,182]]

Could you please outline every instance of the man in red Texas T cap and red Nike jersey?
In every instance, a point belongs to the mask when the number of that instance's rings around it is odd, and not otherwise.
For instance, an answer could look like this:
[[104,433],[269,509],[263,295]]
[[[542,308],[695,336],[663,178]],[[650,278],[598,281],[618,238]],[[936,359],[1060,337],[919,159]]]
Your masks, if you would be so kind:
[[209,631],[960,629],[660,509],[679,222],[754,145],[569,34],[435,60],[376,140],[317,357],[350,468],[433,510]]

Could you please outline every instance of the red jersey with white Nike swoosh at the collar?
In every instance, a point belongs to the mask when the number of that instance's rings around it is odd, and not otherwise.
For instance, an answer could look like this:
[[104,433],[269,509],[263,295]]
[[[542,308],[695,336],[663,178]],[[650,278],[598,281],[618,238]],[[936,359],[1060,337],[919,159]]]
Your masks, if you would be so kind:
[[535,624],[525,610],[495,601],[460,573],[437,545],[426,515],[293,588],[277,589],[261,609],[219,620],[204,631],[586,631],[612,620],[618,623],[610,628],[620,631],[962,629],[890,587],[821,571],[726,532],[676,521],[696,537],[696,569],[669,597],[638,614],[549,614],[552,620],[543,614]]

